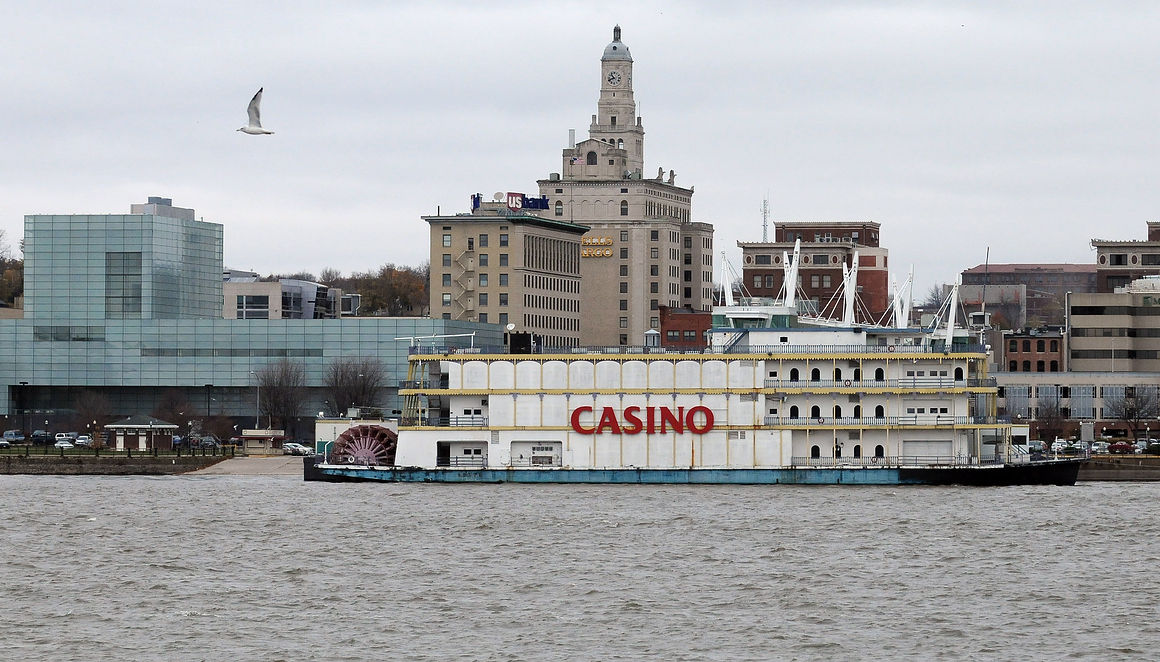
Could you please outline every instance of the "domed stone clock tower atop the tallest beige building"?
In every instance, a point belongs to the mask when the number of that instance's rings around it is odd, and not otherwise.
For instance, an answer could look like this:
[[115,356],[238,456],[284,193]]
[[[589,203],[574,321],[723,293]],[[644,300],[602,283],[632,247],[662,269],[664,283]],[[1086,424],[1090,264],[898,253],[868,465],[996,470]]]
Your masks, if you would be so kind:
[[644,170],[645,130],[632,100],[632,54],[621,41],[621,27],[612,28],[612,41],[600,58],[600,101],[592,116],[588,137],[625,151],[630,173]]

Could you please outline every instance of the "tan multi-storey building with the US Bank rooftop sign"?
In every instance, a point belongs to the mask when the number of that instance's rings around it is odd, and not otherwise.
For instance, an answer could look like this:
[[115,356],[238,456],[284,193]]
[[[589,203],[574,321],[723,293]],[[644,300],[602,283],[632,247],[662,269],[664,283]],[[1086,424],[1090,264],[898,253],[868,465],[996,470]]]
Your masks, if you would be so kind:
[[478,195],[470,213],[423,220],[430,225],[433,318],[514,325],[542,347],[580,342],[586,226]]

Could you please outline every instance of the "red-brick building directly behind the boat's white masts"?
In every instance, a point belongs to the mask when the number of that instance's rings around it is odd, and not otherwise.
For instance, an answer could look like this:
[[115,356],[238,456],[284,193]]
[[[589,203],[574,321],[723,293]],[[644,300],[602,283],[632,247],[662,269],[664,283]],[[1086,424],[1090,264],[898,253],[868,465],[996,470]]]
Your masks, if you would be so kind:
[[890,250],[879,246],[880,225],[875,221],[785,221],[774,230],[774,241],[738,241],[746,290],[754,297],[777,297],[784,279],[784,259],[792,259],[802,242],[797,289],[818,311],[841,317],[842,267],[858,255],[857,289],[861,305],[855,320],[878,322],[890,305]]

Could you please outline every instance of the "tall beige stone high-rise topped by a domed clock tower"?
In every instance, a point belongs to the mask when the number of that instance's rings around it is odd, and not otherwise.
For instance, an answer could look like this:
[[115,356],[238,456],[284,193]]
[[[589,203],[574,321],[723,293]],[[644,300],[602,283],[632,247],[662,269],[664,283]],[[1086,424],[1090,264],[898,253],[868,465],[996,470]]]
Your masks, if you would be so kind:
[[539,213],[589,228],[580,247],[580,342],[639,345],[660,328],[661,306],[710,308],[713,227],[693,220],[693,187],[676,185],[674,170],[644,176],[645,130],[619,27],[600,77],[588,139],[570,140],[560,173],[537,182],[548,201]]

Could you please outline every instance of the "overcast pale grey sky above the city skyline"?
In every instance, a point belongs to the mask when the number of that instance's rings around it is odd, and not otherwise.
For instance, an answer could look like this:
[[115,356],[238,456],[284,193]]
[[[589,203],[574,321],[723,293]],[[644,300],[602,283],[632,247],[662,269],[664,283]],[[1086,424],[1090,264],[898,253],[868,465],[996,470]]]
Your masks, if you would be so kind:
[[[921,289],[1160,216],[1157,2],[85,1],[0,5],[0,228],[160,195],[227,267],[418,264],[421,214],[560,169],[616,23],[645,172],[734,264],[767,194],[773,223],[882,223]],[[262,86],[276,134],[235,132]]]

